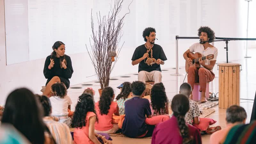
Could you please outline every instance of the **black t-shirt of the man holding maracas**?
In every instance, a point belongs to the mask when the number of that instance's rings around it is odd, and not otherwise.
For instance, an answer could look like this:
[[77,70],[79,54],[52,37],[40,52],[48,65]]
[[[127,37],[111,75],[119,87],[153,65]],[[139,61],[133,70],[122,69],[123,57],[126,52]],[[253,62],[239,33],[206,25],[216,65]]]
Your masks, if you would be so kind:
[[[164,50],[160,45],[154,44],[152,51],[153,51],[153,58],[155,58],[156,60],[157,59],[167,60],[167,58],[164,54]],[[144,53],[146,53],[146,52],[147,52],[147,48],[145,47],[144,44],[138,46],[132,55],[132,60],[137,60],[137,59],[141,58],[144,55]],[[150,51],[148,52],[148,54],[149,54],[149,58],[151,58]],[[153,70],[161,71],[160,65],[155,63],[152,66],[150,66],[150,65],[148,66],[148,64],[145,63],[146,60],[147,60],[147,58],[140,62],[138,72],[140,72],[141,70],[145,70],[147,72],[151,72]]]

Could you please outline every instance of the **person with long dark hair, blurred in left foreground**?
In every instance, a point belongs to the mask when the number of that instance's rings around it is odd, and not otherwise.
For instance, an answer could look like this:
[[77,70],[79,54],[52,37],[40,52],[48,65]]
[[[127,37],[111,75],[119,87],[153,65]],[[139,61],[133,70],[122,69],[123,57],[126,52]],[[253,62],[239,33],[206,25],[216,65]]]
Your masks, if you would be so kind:
[[42,106],[26,88],[16,89],[8,95],[1,122],[12,124],[32,144],[56,143],[43,122]]

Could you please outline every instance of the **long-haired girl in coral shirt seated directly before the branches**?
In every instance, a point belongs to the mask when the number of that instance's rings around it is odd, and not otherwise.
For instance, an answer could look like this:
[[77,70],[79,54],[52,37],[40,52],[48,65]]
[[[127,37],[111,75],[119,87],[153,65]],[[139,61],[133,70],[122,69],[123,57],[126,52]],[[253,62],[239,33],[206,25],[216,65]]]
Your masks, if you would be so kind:
[[98,116],[98,122],[95,123],[95,132],[115,133],[119,127],[112,124],[112,116],[119,116],[119,108],[114,102],[115,94],[111,87],[105,87],[102,90],[100,101],[95,103],[95,109]]

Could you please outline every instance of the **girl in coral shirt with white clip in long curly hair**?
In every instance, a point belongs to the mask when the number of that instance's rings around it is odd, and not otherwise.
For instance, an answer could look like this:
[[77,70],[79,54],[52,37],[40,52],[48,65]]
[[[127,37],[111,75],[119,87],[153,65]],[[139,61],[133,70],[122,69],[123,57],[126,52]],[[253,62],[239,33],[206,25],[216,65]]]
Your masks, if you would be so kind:
[[83,93],[77,100],[76,110],[71,124],[75,128],[74,142],[76,144],[101,144],[97,138],[100,138],[103,143],[112,143],[104,136],[94,133],[94,124],[97,119],[92,96]]

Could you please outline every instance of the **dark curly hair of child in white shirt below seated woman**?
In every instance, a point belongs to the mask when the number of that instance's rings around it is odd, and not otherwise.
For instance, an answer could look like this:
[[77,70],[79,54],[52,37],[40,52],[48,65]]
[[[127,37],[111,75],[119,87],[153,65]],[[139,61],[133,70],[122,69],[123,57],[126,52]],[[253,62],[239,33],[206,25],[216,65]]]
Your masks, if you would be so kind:
[[52,84],[52,94],[54,96],[59,96],[60,98],[63,98],[65,95],[67,95],[67,88],[65,84],[62,82]]

